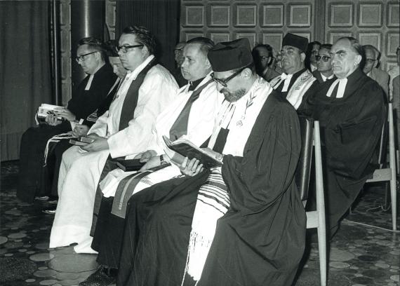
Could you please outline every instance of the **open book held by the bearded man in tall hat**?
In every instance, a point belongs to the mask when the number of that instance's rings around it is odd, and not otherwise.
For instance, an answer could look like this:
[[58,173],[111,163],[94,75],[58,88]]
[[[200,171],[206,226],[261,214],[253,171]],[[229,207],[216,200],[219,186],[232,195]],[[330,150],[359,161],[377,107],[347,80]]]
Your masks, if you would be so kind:
[[[188,139],[180,138],[172,142],[168,137],[163,136],[166,146],[176,153],[189,159],[196,158],[203,164],[204,168],[218,167],[222,165],[221,161],[207,154],[203,149],[196,147]],[[174,161],[174,158],[171,158]]]

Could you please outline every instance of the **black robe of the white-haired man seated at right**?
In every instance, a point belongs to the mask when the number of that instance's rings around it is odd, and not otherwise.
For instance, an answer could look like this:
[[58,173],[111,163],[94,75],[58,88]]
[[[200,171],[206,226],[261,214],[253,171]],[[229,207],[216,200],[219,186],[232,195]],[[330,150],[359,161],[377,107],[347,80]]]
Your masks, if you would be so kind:
[[309,97],[298,113],[320,121],[327,231],[332,236],[377,167],[386,109],[382,88],[361,69],[347,77],[342,98],[335,98],[335,90],[327,97],[330,86]]

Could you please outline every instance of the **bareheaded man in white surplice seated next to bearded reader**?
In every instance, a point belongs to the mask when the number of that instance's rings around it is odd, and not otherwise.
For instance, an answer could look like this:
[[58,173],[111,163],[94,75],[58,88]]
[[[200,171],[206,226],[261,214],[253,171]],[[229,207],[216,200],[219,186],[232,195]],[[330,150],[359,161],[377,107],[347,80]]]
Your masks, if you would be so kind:
[[[101,199],[97,222],[92,226],[95,229],[92,248],[98,251],[97,261],[103,267],[82,282],[81,286],[93,285],[93,281],[98,281],[96,285],[108,285],[107,282],[115,279],[112,277],[113,271],[107,268],[118,268],[126,202],[132,193],[181,175],[177,165],[168,164],[163,136],[171,140],[184,137],[200,146],[213,132],[215,117],[223,100],[211,79],[211,64],[207,58],[208,50],[213,46],[213,41],[202,37],[187,42],[181,69],[189,83],[180,88],[175,100],[157,117],[148,151],[137,156],[147,162],[141,172],[115,169],[100,183],[104,197]],[[124,196],[124,193],[128,195]]]

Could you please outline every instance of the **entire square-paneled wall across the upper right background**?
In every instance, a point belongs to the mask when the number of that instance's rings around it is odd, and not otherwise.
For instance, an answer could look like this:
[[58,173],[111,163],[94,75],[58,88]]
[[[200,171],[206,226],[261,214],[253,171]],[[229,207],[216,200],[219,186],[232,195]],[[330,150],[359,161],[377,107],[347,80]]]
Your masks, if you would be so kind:
[[287,32],[333,43],[354,36],[382,52],[382,69],[396,64],[399,0],[182,0],[180,39],[215,42],[247,37],[276,50]]

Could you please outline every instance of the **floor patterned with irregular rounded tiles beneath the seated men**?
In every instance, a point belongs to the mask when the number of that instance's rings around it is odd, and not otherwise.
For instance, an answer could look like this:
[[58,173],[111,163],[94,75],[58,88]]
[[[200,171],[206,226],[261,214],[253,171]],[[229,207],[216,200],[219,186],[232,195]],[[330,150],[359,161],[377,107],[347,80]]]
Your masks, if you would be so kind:
[[[0,285],[78,285],[97,267],[95,255],[76,254],[72,247],[48,248],[53,216],[41,210],[51,205],[21,203],[15,197],[17,175],[16,162],[1,163]],[[400,233],[387,230],[391,214],[380,207],[382,189],[366,189],[342,222],[331,243],[328,285],[399,285]],[[304,260],[295,285],[319,285],[315,243],[307,245]]]

